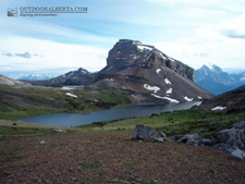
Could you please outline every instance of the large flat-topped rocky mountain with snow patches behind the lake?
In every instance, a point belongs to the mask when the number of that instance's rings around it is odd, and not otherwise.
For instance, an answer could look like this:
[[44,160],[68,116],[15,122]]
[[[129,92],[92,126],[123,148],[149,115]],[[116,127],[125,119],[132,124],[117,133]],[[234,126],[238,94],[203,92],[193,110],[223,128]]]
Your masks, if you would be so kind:
[[154,46],[120,39],[109,51],[107,66],[96,76],[93,89],[119,87],[133,91],[135,105],[186,102],[213,95],[194,83],[194,70]]

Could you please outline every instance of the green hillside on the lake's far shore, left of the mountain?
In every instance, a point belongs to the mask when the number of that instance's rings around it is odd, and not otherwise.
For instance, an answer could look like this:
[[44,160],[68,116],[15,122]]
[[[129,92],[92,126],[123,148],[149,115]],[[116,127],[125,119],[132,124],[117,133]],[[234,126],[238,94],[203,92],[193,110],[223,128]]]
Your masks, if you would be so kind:
[[[71,93],[75,97],[65,95]],[[0,120],[14,120],[47,113],[88,113],[119,106],[130,106],[130,91],[61,90],[53,87],[0,85]]]

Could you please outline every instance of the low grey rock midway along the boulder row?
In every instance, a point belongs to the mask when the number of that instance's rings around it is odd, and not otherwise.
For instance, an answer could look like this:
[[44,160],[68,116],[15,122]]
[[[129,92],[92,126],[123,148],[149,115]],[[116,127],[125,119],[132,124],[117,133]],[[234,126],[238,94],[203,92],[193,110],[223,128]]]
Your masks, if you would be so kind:
[[186,134],[177,143],[185,143],[186,146],[199,146],[201,139],[204,139],[201,134]]

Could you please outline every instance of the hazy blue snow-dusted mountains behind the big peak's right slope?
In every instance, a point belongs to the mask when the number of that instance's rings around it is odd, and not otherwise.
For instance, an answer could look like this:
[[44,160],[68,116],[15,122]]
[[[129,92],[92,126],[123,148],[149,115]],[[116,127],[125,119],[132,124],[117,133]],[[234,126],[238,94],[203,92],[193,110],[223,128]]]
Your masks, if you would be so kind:
[[212,94],[220,95],[244,85],[245,72],[229,74],[216,64],[203,65],[195,71],[195,82]]

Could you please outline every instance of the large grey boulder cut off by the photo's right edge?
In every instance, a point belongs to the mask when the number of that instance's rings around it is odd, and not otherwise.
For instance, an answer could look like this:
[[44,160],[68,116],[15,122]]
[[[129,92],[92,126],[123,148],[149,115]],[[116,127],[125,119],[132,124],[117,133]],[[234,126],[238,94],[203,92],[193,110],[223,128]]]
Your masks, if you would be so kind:
[[245,149],[244,131],[242,130],[231,128],[220,131],[218,140],[240,149]]

